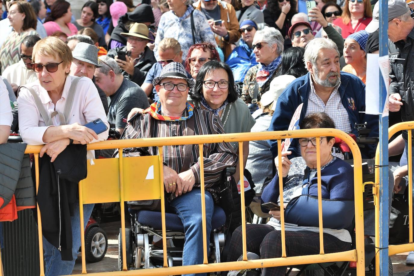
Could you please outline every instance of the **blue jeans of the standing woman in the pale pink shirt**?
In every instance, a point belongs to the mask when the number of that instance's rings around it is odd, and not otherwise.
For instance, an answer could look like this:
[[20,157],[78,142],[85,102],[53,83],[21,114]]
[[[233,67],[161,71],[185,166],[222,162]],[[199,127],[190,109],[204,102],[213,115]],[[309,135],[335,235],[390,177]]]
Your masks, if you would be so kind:
[[[83,218],[84,227],[89,221],[95,204],[84,204]],[[71,217],[70,223],[72,225],[72,261],[62,261],[60,251],[48,242],[43,237],[43,255],[45,257],[45,276],[70,275],[72,274],[77,254],[79,252],[80,242],[80,215],[79,215],[79,201],[75,203],[74,216]]]

